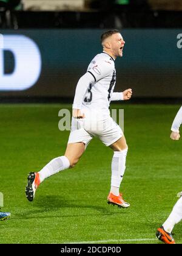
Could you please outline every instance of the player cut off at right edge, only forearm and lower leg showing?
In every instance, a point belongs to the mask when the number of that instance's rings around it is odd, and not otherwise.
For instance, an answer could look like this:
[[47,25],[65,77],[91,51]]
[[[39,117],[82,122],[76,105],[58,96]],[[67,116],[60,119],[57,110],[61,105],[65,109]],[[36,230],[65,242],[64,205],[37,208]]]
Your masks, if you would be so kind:
[[[179,140],[180,139],[180,126],[182,123],[182,107],[178,111],[174,122],[172,124],[172,133],[170,134],[170,138],[172,140]],[[181,196],[181,197],[180,197]],[[165,244],[175,244],[174,238],[172,237],[172,230],[174,229],[175,224],[182,219],[182,193],[179,193],[180,199],[178,200],[177,204],[175,204],[172,212],[169,215],[169,218],[164,222],[163,226],[161,226],[157,230],[157,238]]]

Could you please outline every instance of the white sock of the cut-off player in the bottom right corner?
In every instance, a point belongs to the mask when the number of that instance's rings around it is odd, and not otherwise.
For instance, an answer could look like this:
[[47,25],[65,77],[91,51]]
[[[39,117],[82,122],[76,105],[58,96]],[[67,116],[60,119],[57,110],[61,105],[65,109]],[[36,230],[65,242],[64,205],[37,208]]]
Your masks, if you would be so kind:
[[178,224],[182,219],[182,197],[175,204],[172,212],[169,215],[169,218],[164,222],[164,230],[171,233],[174,229],[175,224]]

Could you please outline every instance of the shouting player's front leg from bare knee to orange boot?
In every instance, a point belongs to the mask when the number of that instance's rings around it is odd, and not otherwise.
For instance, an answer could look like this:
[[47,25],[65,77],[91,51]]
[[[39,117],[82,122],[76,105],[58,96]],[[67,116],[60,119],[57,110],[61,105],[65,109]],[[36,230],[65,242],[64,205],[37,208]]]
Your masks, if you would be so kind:
[[108,204],[127,208],[130,204],[125,202],[122,194],[120,194],[120,185],[126,169],[126,155],[128,150],[126,138],[124,136],[121,137],[120,140],[113,143],[110,148],[114,151],[114,154],[112,158],[111,188],[107,202]]

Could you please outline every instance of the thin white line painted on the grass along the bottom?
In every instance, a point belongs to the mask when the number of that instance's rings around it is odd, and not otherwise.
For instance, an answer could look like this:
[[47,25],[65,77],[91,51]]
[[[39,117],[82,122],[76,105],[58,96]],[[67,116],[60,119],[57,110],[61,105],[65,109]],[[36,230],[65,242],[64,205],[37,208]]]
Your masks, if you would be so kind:
[[[101,243],[112,243],[112,242],[118,242],[118,243],[125,243],[125,242],[144,242],[144,241],[157,241],[157,239],[120,239],[120,240],[98,240],[98,241],[82,241],[82,242],[70,242],[67,244],[101,244]],[[66,243],[65,243],[66,244]]]

